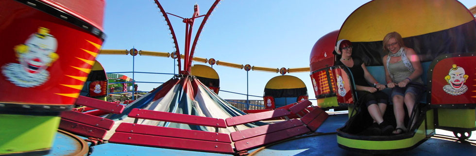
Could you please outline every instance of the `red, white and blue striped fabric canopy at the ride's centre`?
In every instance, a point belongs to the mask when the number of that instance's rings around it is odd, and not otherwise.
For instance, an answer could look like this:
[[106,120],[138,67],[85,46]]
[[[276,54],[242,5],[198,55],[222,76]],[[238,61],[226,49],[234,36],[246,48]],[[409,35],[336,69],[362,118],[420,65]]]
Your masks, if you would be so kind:
[[[244,115],[242,111],[230,105],[224,99],[202,84],[194,76],[175,77],[155,88],[151,92],[135,100],[126,106],[121,114],[110,114],[106,118],[115,120],[114,127],[106,134],[106,138],[114,133],[115,129],[122,122],[134,123],[134,118],[127,117],[132,109],[147,109],[153,111],[182,113],[197,116],[206,116],[225,119],[228,117]],[[214,128],[177,124],[153,120],[138,120],[139,124],[162,126],[170,128],[193,129],[203,131],[215,131]],[[253,128],[264,125],[261,122],[238,126],[239,129]],[[220,133],[234,132],[234,128],[220,128]]]

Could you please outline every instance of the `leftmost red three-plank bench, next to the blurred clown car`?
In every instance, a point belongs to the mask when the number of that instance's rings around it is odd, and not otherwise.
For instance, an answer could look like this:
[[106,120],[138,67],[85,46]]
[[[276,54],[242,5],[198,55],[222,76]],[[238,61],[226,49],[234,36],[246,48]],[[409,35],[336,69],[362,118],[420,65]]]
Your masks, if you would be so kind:
[[[124,110],[123,105],[84,96],[79,96],[76,104],[108,113],[122,113]],[[85,137],[102,139],[113,125],[114,121],[110,119],[78,111],[66,111],[61,113],[59,128]]]

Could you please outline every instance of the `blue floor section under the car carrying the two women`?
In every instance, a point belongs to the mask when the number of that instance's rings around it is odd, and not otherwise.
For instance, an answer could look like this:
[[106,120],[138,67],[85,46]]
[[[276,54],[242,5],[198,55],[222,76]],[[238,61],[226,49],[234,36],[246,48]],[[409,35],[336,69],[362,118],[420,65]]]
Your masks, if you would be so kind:
[[[254,151],[250,151],[254,152]],[[476,146],[470,143],[429,139],[410,151],[395,152],[390,156],[475,156]],[[336,134],[305,137],[269,146],[255,156],[365,156],[337,146]],[[389,156],[389,155],[387,155]]]

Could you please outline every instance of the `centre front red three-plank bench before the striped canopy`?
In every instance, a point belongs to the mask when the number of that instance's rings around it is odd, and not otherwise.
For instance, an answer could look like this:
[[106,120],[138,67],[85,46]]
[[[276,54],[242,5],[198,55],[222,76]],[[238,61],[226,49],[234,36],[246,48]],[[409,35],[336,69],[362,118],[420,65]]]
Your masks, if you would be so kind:
[[230,137],[225,133],[136,124],[137,119],[148,119],[214,127],[218,131],[218,128],[226,128],[223,119],[136,108],[128,116],[136,118],[135,123],[121,123],[109,142],[225,154],[234,153]]

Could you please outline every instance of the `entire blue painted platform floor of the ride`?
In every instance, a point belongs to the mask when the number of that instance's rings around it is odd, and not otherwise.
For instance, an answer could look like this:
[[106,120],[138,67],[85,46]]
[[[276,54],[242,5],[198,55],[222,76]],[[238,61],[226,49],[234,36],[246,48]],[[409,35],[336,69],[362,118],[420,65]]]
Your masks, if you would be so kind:
[[[301,136],[294,140],[269,145],[264,149],[249,151],[255,156],[344,156],[368,155],[347,151],[338,147],[336,129],[347,121],[348,114],[330,115],[316,130],[321,134]],[[438,133],[438,130],[437,130]],[[470,140],[476,139],[476,132]],[[448,135],[449,136],[449,135]],[[86,138],[82,138],[86,139]],[[63,156],[73,153],[78,141],[58,132],[49,156]],[[89,145],[89,143],[88,143]],[[91,147],[90,156],[223,156],[224,154],[183,151],[155,147],[135,146],[116,143],[104,143]],[[411,151],[394,153],[395,156],[474,156],[476,146],[441,139],[429,139]]]

